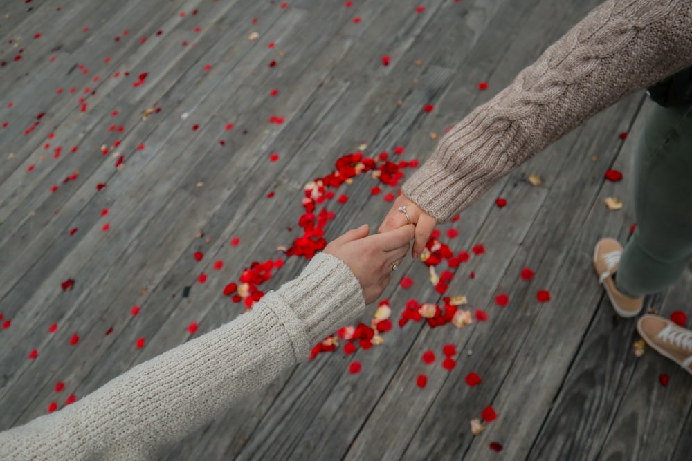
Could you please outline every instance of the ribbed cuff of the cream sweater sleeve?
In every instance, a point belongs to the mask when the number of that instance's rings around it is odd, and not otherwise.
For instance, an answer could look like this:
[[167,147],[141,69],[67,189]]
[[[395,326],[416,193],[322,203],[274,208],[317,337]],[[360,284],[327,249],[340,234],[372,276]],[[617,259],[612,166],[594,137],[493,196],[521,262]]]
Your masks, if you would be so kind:
[[[302,323],[309,348],[365,311],[361,283],[346,263],[326,253],[314,256],[300,276],[285,283],[275,294],[284,299]],[[303,352],[302,347],[296,347],[297,355]],[[310,349],[298,360],[305,359],[309,352]]]

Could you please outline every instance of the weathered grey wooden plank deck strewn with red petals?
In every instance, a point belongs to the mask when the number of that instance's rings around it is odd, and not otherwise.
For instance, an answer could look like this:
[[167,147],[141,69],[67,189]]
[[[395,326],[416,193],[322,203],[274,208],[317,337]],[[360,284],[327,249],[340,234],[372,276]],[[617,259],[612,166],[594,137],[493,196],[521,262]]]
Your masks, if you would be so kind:
[[[425,160],[436,136],[598,3],[3,2],[0,429],[181,344],[191,322],[198,336],[233,319],[242,304],[221,292],[253,261],[286,260],[266,290],[293,278],[306,261],[277,247],[298,235],[309,180],[358,149],[375,156],[400,145],[401,159]],[[397,276],[414,284],[404,290],[395,279],[385,292],[395,326],[383,345],[297,366],[167,459],[689,459],[691,377],[650,350],[635,357],[635,321],[614,314],[591,265],[594,243],[625,241],[634,222],[630,154],[648,104],[639,93],[597,115],[440,226],[455,252],[484,244],[485,254],[453,270],[447,294],[466,295],[488,321],[396,326],[408,299],[440,301],[426,267],[407,261]],[[621,182],[604,181],[612,167]],[[397,189],[372,195],[374,185],[356,178],[336,191],[349,200],[327,202],[336,212],[328,238],[379,225],[390,207],[383,197]],[[623,209],[608,211],[607,196]],[[525,266],[531,281],[519,276]],[[539,303],[538,290],[552,300]],[[647,303],[667,315],[689,309],[691,297],[688,270]],[[451,371],[441,366],[444,344],[459,350]],[[434,364],[421,360],[426,350]],[[349,373],[352,361],[361,373]],[[482,383],[468,386],[470,372]],[[489,405],[497,420],[472,435],[469,421]]]

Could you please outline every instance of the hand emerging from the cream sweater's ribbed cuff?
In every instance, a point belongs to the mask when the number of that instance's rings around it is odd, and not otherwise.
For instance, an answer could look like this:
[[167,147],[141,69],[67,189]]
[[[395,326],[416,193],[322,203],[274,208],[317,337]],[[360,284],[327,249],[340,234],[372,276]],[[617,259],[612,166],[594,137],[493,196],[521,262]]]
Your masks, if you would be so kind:
[[346,263],[363,288],[365,303],[380,297],[392,278],[392,267],[401,264],[413,239],[413,225],[368,236],[367,224],[331,241],[324,252]]

